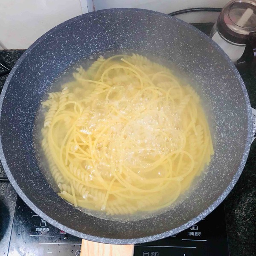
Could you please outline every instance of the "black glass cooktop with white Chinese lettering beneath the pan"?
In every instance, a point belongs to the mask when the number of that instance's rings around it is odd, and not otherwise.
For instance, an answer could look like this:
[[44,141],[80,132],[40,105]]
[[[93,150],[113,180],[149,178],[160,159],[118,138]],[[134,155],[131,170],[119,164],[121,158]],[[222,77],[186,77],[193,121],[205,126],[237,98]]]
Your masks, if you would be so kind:
[[[79,256],[81,239],[53,227],[17,197],[8,256]],[[224,204],[165,239],[135,244],[134,256],[229,256]]]

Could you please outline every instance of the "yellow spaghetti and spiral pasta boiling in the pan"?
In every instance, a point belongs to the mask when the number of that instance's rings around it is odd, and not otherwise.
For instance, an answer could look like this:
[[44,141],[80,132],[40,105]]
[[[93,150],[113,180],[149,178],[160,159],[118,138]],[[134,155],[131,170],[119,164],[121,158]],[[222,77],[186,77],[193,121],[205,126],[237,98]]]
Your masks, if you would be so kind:
[[100,57],[73,76],[41,103],[58,195],[107,215],[175,202],[213,154],[197,93],[138,54]]

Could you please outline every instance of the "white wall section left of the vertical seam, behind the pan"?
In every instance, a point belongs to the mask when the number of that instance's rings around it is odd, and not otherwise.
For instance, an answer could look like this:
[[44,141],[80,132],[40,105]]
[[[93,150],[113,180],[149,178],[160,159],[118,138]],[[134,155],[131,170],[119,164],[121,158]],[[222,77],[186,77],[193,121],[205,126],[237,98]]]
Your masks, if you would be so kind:
[[0,47],[26,49],[49,29],[81,14],[80,0],[0,0]]

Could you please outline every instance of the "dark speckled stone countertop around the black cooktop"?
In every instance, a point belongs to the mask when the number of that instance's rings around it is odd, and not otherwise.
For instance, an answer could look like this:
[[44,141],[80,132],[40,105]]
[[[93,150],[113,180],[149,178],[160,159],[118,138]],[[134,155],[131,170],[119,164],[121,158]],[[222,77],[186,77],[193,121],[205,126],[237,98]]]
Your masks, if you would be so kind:
[[[194,24],[207,35],[209,35],[212,25],[212,23]],[[12,67],[23,52],[24,50],[3,50],[0,51],[0,57]],[[0,77],[0,90],[2,90],[6,78],[7,76]],[[242,78],[250,97],[251,106],[256,108],[256,77],[252,73],[246,73],[242,75]],[[5,177],[1,164],[0,177]],[[16,202],[16,192],[9,182],[0,182],[0,203],[1,201],[8,209],[3,211],[4,214],[0,213],[0,251],[3,252],[3,255],[7,255]],[[256,140],[251,145],[244,171],[224,200],[224,204],[230,256],[256,255]],[[3,206],[0,205],[1,207]],[[3,221],[3,218],[7,221]],[[1,233],[5,233],[5,235],[1,237]]]

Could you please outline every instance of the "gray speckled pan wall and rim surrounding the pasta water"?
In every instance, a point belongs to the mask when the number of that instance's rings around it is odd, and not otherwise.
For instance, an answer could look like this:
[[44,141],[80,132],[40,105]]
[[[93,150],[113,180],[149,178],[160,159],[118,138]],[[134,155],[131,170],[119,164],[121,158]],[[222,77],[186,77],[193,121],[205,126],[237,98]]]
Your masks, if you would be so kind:
[[[92,217],[58,197],[38,167],[32,143],[35,114],[53,79],[82,57],[123,49],[163,56],[188,74],[209,110],[215,149],[209,170],[190,196],[167,212],[128,222]],[[20,197],[61,230],[105,243],[161,239],[200,221],[233,188],[250,149],[250,102],[227,55],[187,23],[141,9],[93,12],[47,32],[15,64],[4,85],[0,108],[0,158]]]

